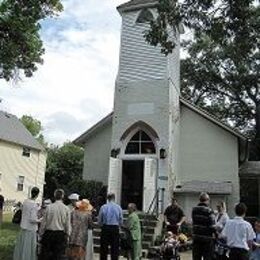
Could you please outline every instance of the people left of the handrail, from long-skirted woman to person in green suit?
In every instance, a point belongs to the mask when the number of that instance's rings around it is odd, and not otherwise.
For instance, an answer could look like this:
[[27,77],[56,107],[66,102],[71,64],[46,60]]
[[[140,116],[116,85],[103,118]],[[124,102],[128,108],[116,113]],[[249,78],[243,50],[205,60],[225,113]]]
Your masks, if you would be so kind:
[[[95,209],[87,199],[76,193],[63,203],[64,191],[54,192],[54,202],[44,200],[41,208],[36,202],[39,189],[31,189],[31,197],[23,203],[21,231],[18,234],[13,260],[93,260],[93,217]],[[108,257],[109,247],[112,260],[119,258],[120,228],[130,234],[129,259],[141,258],[141,226],[136,205],[128,205],[127,224],[123,225],[123,211],[115,203],[115,195],[107,195],[107,203],[100,207],[98,224],[100,234],[100,259]]]

